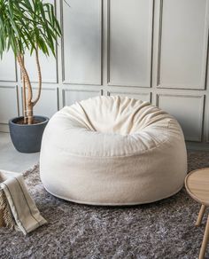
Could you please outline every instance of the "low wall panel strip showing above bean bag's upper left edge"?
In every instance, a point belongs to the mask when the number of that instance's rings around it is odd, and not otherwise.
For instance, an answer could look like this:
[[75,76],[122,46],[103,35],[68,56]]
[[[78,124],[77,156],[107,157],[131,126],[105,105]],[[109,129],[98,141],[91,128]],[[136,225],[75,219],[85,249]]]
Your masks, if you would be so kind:
[[101,90],[63,90],[64,106],[71,106],[75,102],[102,95]]

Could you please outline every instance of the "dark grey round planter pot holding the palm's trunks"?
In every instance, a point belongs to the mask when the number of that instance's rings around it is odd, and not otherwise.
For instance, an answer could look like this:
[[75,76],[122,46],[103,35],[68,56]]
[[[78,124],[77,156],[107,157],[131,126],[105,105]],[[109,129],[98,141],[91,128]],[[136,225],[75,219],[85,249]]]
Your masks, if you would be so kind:
[[43,131],[49,118],[43,116],[34,118],[41,122],[32,125],[17,124],[23,117],[13,118],[9,122],[12,143],[21,153],[35,153],[41,149]]

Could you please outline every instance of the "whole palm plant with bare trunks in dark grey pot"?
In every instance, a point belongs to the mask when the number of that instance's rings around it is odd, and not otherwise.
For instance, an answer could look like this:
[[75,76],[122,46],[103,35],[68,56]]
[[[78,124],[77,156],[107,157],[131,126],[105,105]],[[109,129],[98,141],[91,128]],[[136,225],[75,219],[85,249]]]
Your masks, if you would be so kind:
[[[0,57],[3,57],[4,51],[12,50],[21,71],[23,116],[9,122],[12,142],[19,152],[40,151],[43,130],[49,119],[33,113],[42,90],[39,51],[56,57],[56,44],[60,36],[61,29],[52,4],[43,0],[0,0]],[[27,52],[35,54],[38,75],[35,98],[24,62]]]

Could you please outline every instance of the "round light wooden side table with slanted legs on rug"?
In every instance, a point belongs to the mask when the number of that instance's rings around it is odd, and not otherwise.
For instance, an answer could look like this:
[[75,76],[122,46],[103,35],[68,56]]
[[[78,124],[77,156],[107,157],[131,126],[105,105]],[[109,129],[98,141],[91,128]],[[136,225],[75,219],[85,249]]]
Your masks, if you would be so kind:
[[[191,171],[185,178],[185,187],[190,196],[201,204],[201,208],[197,217],[196,225],[199,226],[205,213],[205,209],[209,206],[209,168],[197,169]],[[209,239],[209,216],[205,226],[205,233],[200,248],[199,259],[205,258],[205,251]]]

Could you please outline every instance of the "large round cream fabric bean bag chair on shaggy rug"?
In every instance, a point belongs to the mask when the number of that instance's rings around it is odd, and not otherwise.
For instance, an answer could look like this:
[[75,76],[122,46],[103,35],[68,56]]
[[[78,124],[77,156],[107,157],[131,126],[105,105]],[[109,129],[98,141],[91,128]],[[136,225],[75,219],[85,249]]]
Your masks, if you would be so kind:
[[187,172],[182,129],[148,102],[97,97],[48,123],[40,173],[48,192],[94,205],[134,205],[179,192]]

